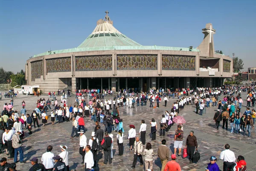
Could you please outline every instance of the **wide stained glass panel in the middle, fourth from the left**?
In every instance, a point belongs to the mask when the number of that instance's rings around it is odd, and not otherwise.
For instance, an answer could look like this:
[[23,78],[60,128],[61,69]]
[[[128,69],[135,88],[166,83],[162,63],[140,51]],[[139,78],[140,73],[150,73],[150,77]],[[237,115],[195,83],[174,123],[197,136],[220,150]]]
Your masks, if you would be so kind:
[[157,55],[117,55],[117,70],[157,70]]

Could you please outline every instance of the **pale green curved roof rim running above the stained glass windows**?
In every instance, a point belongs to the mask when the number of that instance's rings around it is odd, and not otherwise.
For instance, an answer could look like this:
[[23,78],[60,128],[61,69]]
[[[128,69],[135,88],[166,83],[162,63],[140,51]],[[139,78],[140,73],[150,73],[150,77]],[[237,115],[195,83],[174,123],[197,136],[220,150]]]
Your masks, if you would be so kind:
[[102,47],[86,47],[86,48],[73,48],[73,49],[63,49],[63,50],[52,50],[34,57],[60,54],[60,53],[70,53],[70,52],[83,52],[83,51],[99,51],[99,50],[175,50],[175,51],[191,51],[200,52],[199,49],[189,49],[188,47],[167,47],[167,46],[102,46]]

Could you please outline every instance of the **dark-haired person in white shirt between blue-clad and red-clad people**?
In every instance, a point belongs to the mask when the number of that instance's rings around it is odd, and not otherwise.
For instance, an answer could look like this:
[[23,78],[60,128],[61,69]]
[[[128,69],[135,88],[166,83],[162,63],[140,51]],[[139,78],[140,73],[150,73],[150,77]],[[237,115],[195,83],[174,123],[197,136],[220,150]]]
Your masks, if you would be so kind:
[[230,166],[236,161],[236,157],[233,151],[230,151],[230,145],[225,145],[225,150],[221,151],[220,159],[223,160],[223,170],[228,171]]

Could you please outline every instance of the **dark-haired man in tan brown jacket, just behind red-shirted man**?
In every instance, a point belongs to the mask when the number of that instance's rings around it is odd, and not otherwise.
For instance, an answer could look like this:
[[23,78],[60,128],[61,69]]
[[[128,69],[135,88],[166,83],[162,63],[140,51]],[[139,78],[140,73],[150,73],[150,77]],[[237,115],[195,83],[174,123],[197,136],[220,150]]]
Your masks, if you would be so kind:
[[169,159],[169,148],[166,146],[165,139],[162,140],[162,144],[158,147],[157,156],[161,160],[161,163],[162,163],[161,171],[163,171]]

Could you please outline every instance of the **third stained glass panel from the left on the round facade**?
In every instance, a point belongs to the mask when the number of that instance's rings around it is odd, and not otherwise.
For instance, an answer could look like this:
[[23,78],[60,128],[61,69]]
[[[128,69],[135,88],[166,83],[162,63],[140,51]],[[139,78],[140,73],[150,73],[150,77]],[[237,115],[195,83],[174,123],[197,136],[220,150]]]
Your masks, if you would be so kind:
[[77,56],[76,71],[112,70],[112,55]]

